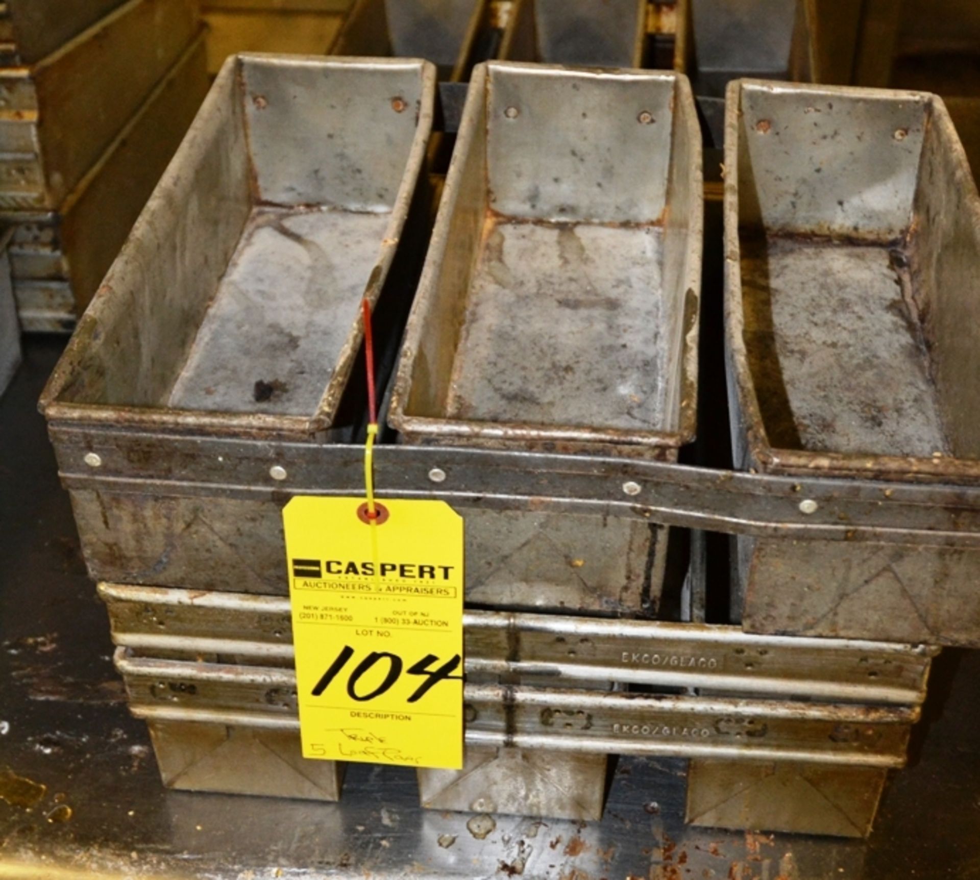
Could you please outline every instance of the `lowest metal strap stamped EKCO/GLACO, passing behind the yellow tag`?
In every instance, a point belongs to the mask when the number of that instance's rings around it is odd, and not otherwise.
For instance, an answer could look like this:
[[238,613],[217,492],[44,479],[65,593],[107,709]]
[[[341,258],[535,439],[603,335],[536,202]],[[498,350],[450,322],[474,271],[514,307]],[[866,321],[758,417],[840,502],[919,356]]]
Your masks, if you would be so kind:
[[[296,729],[290,669],[133,658],[116,665],[132,713],[152,720]],[[917,708],[473,685],[466,743],[587,754],[905,764]],[[272,720],[275,719],[275,720]]]

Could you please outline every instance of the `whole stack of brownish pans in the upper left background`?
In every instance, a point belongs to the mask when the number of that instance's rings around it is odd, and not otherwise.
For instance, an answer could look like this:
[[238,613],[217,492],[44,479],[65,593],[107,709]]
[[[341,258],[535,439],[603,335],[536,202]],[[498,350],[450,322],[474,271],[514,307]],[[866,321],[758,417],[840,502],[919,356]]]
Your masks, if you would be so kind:
[[0,19],[0,220],[28,331],[72,329],[207,90],[195,0],[62,6]]

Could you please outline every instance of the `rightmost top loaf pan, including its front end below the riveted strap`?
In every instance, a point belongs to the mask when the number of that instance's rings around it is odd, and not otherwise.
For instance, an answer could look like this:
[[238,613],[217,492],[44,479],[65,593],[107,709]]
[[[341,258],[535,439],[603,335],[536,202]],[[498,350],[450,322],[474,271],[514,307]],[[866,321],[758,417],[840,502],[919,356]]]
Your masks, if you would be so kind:
[[[727,113],[736,467],[976,484],[980,198],[943,102],[747,80]],[[976,550],[738,547],[750,630],[980,646]]]

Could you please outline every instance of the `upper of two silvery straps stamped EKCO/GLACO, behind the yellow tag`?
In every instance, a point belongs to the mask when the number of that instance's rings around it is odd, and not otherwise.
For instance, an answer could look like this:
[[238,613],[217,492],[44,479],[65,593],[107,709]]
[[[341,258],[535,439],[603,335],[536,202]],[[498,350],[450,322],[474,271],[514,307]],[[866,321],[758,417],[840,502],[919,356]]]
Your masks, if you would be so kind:
[[[100,584],[113,641],[141,656],[291,664],[289,601]],[[466,671],[918,705],[935,649],[752,636],[734,626],[466,611]],[[166,652],[166,655],[164,654]],[[226,660],[223,660],[226,661]]]

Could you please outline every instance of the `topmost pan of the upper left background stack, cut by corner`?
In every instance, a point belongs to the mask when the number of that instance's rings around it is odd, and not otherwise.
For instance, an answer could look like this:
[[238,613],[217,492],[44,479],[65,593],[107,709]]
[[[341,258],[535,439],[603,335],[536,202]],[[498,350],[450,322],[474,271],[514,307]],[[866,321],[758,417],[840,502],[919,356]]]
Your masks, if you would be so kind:
[[4,0],[4,51],[30,65],[96,24],[123,0]]

